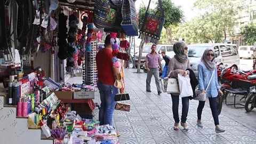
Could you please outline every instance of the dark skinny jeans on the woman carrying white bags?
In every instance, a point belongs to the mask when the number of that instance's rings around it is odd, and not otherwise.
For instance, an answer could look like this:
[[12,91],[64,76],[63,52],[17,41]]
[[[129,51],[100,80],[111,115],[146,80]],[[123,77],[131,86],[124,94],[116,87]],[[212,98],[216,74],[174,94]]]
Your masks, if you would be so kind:
[[[172,94],[171,94],[172,95]],[[175,123],[180,122],[179,118],[179,95],[172,95],[172,113]],[[188,116],[188,108],[189,108],[189,97],[181,98],[182,100],[182,114],[181,114],[181,122],[186,123]]]

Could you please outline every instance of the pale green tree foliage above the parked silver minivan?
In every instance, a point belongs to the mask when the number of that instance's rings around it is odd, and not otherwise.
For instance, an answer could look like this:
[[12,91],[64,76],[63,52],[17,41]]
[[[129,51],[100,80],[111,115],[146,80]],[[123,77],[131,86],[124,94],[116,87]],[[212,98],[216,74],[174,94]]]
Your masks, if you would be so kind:
[[182,26],[179,34],[184,36],[185,41],[220,43],[226,40],[227,35],[233,35],[239,10],[235,0],[197,0],[194,8],[204,13]]

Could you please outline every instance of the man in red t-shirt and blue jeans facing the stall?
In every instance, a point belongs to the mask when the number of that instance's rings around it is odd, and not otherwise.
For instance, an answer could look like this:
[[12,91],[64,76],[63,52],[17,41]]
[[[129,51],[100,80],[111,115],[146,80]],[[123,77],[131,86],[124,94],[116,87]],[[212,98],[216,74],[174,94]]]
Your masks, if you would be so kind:
[[106,36],[105,48],[96,55],[98,68],[98,89],[100,91],[100,125],[112,125],[113,114],[116,106],[115,95],[119,90],[114,86],[119,75],[119,69],[113,67],[112,47],[110,35]]

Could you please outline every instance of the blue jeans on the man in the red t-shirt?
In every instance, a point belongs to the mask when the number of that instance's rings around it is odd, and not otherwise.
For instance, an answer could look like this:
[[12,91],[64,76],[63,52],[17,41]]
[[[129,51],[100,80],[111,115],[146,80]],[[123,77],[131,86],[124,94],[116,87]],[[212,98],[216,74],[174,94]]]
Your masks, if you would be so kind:
[[99,112],[100,125],[112,125],[112,119],[116,106],[115,95],[119,90],[114,85],[103,84],[100,80],[98,80],[98,89],[100,91],[101,101]]

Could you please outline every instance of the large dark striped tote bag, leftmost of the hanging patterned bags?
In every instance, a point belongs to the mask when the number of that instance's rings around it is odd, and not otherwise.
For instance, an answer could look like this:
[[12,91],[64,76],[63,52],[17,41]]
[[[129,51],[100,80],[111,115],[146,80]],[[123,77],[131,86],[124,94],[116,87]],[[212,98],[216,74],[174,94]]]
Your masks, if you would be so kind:
[[[121,0],[97,0],[94,5],[93,23],[97,28],[121,28]],[[119,23],[119,25],[118,25]]]

